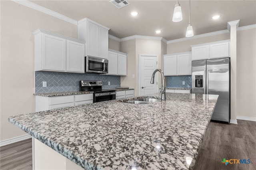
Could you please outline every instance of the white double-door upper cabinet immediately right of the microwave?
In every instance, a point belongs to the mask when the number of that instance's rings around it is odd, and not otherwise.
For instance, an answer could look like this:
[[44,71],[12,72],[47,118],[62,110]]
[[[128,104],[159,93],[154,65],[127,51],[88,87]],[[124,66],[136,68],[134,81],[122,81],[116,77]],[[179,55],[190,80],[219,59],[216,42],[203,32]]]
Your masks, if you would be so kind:
[[127,75],[127,55],[120,51],[108,51],[108,75]]

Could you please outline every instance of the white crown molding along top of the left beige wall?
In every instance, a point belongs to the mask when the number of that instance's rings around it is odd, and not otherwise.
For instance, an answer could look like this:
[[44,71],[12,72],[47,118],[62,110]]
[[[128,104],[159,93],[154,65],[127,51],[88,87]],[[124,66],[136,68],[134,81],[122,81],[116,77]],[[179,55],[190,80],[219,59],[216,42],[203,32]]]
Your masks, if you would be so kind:
[[48,8],[44,8],[44,7],[40,6],[40,5],[34,4],[34,3],[32,3],[32,2],[30,2],[28,0],[12,0],[12,1],[16,2],[18,4],[22,4],[24,6],[27,6],[28,8],[32,8],[34,10],[43,12],[43,13],[48,14],[50,16],[54,16],[56,18],[59,18],[61,20],[64,20],[64,21],[69,22],[71,24],[74,24],[76,26],[78,25],[78,22],[76,20],[68,18],[68,17],[66,17],[66,16],[64,16],[62,14],[59,14],[58,12],[54,12],[52,10],[49,10]]

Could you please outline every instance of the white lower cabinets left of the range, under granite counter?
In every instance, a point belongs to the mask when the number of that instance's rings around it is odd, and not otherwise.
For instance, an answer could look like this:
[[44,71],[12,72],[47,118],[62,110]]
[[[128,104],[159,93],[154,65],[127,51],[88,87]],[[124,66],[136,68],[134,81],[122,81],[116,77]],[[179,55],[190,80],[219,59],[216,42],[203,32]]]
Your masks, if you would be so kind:
[[93,103],[93,94],[43,97],[36,96],[36,112]]

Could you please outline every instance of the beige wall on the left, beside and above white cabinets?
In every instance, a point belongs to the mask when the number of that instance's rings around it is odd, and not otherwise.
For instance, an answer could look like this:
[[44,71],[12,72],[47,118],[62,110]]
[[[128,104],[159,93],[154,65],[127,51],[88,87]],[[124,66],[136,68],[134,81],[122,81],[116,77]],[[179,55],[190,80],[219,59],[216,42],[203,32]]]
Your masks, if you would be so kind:
[[6,140],[26,134],[8,117],[35,112],[34,35],[38,28],[77,38],[77,26],[13,1],[1,5],[1,135]]

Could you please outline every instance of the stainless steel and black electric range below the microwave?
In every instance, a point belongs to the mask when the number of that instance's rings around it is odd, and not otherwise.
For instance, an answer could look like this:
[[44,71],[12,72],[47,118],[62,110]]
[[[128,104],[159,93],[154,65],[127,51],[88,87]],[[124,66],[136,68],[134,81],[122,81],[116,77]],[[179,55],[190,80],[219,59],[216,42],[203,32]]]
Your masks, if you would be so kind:
[[80,91],[93,91],[93,103],[116,99],[116,91],[102,89],[102,81],[80,81]]

